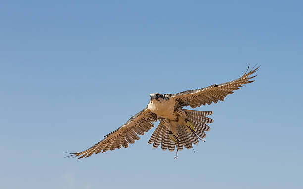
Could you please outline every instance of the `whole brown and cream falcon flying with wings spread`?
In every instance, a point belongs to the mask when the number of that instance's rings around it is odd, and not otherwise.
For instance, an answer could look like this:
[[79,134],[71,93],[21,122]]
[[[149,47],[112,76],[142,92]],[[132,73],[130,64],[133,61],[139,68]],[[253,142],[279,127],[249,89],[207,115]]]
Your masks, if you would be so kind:
[[[139,139],[138,135],[143,135],[154,127],[152,122],[160,121],[158,127],[152,134],[148,144],[153,143],[153,147],[157,148],[161,144],[162,150],[168,148],[169,151],[182,150],[183,146],[187,149],[192,148],[192,144],[198,144],[199,140],[205,141],[205,131],[210,131],[208,123],[213,120],[206,116],[212,114],[212,111],[196,111],[183,109],[184,106],[196,108],[201,105],[217,103],[218,100],[223,101],[228,94],[234,93],[244,84],[251,83],[256,75],[258,68],[247,71],[238,79],[222,83],[213,84],[211,86],[183,91],[176,94],[150,94],[150,101],[146,108],[131,117],[125,124],[118,129],[105,135],[104,139],[96,143],[94,146],[78,153],[70,153],[67,157],[89,157],[92,154],[102,153],[116,148],[120,149],[128,147],[129,143],[134,143]],[[138,134],[138,135],[137,135]],[[199,140],[198,140],[199,139]]]

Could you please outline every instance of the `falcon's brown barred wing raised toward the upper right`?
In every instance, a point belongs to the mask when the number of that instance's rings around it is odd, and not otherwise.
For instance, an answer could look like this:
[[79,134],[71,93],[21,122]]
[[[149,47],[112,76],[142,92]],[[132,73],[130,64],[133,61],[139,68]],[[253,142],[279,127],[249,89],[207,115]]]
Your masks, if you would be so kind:
[[233,91],[239,89],[239,87],[242,87],[243,84],[253,82],[254,80],[250,81],[250,79],[254,78],[256,75],[252,77],[249,76],[256,72],[259,67],[260,66],[255,69],[253,68],[249,72],[248,67],[244,75],[234,81],[222,83],[219,85],[213,84],[201,89],[183,91],[180,93],[172,94],[170,97],[171,99],[177,101],[180,106],[191,106],[192,108],[201,106],[202,104],[211,104],[212,102],[217,103],[218,100],[223,101],[228,94],[234,93]]

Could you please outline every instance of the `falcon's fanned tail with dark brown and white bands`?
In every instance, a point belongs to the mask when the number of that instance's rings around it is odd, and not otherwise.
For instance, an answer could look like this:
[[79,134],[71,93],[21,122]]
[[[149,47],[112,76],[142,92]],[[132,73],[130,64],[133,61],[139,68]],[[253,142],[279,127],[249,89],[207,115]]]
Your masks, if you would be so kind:
[[153,143],[153,147],[157,148],[161,144],[162,150],[168,148],[169,151],[174,151],[175,147],[178,150],[182,150],[183,146],[187,149],[192,148],[192,144],[198,144],[198,138],[205,138],[206,134],[204,131],[210,131],[210,127],[207,123],[212,123],[213,120],[206,116],[211,115],[212,111],[195,111],[195,110],[186,110],[184,109],[186,117],[195,128],[195,131],[191,131],[187,126],[186,122],[179,117],[178,122],[171,121],[171,127],[175,128],[177,134],[179,135],[179,141],[176,144],[169,138],[169,130],[167,127],[161,123],[158,125],[156,130],[153,132],[152,137],[150,138],[148,144]]

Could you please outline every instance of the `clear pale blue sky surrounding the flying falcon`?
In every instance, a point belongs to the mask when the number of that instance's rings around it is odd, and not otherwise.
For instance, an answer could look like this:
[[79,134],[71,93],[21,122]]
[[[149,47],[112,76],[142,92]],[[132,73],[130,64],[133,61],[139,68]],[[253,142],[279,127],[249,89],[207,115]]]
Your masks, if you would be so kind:
[[[0,3],[1,189],[302,189],[303,2]],[[64,158],[146,107],[149,94],[256,82],[214,111],[206,142],[147,142]],[[157,125],[158,123],[156,123]]]

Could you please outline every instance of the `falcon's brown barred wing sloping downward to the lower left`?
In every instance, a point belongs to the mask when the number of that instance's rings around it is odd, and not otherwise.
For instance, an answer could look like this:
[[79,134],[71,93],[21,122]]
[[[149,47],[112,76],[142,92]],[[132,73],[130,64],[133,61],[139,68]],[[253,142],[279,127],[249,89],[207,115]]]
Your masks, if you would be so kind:
[[120,149],[121,146],[124,148],[128,147],[128,143],[134,143],[138,140],[139,135],[143,135],[144,132],[150,130],[154,125],[151,122],[157,121],[157,115],[152,113],[147,107],[141,110],[139,113],[131,117],[124,125],[114,130],[113,132],[105,135],[104,139],[94,146],[79,152],[71,153],[72,156],[80,156],[78,159],[83,157],[89,157],[93,153],[97,154],[104,153],[107,150]]

